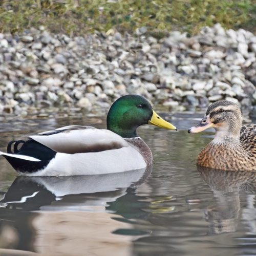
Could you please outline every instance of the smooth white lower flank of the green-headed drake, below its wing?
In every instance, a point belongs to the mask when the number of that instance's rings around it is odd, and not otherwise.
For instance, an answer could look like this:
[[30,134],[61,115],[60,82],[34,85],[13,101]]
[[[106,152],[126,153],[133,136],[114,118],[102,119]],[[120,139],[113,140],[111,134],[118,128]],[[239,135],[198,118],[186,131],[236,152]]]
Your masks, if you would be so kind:
[[66,154],[57,153],[49,164],[27,176],[70,176],[98,175],[126,172],[141,169],[146,163],[139,152],[133,147],[122,147],[93,153]]

